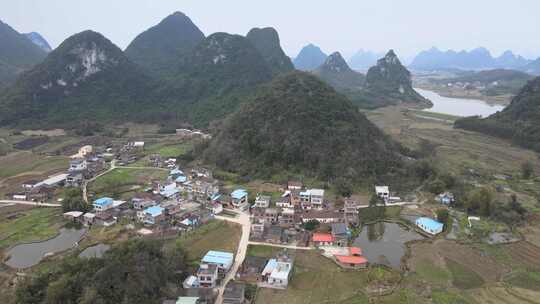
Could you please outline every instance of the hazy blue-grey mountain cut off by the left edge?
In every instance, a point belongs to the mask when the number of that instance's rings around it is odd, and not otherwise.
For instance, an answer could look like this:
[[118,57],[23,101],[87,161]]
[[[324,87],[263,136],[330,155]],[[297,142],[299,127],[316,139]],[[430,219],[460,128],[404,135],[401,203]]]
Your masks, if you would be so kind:
[[17,76],[41,62],[47,53],[24,34],[0,21],[0,88],[11,84]]

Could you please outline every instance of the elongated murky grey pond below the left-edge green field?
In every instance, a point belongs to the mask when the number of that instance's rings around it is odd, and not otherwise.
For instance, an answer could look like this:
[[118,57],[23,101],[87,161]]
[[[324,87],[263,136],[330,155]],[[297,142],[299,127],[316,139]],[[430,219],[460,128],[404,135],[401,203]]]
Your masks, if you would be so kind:
[[17,269],[32,267],[46,256],[77,246],[85,233],[85,229],[63,228],[60,229],[60,234],[52,239],[17,245],[7,252],[9,259],[5,263]]

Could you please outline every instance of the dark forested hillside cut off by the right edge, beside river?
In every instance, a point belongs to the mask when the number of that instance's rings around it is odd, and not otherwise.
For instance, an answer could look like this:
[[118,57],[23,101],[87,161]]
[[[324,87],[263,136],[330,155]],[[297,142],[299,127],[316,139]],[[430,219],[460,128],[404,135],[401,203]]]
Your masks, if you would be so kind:
[[463,118],[455,127],[508,138],[540,151],[540,77],[529,81],[503,111],[484,119]]

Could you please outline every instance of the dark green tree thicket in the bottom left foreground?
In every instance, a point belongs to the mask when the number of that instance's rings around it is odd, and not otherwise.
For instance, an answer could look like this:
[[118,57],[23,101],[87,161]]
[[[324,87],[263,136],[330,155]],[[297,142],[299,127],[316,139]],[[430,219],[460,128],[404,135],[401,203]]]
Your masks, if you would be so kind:
[[17,303],[159,303],[185,270],[183,251],[130,240],[100,259],[69,257],[17,288]]

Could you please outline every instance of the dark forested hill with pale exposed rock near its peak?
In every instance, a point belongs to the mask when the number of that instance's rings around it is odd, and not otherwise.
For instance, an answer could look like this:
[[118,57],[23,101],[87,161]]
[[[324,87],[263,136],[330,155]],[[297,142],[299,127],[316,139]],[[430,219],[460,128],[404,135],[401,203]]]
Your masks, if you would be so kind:
[[151,80],[101,34],[71,36],[0,96],[0,123],[73,126],[134,119],[152,109]]

